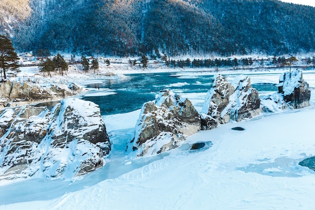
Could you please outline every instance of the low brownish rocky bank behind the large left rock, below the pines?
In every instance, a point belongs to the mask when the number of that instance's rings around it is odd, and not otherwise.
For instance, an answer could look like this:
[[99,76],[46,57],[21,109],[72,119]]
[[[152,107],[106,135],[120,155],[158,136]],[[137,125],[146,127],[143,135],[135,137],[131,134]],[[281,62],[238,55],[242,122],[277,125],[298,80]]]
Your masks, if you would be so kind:
[[82,88],[73,83],[42,86],[30,79],[28,81],[0,82],[0,109],[34,102],[61,100],[81,91]]

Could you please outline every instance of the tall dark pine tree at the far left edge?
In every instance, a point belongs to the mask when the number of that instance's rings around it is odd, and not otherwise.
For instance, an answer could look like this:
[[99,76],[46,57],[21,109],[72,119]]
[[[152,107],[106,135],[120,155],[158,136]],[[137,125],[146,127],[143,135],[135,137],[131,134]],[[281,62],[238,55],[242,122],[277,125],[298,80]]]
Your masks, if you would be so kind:
[[1,80],[3,80],[2,72],[4,73],[4,79],[7,80],[6,71],[8,69],[16,70],[20,67],[18,64],[18,57],[12,42],[6,36],[0,35],[0,71]]

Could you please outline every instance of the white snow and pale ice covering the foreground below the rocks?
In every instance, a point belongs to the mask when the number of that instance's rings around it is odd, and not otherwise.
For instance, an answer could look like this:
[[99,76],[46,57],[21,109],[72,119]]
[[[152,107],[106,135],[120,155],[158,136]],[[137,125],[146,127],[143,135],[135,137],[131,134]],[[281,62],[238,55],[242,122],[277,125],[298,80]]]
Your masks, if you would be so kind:
[[[314,89],[311,73],[303,72],[303,78]],[[278,83],[278,78],[274,72],[261,72],[252,83]],[[298,165],[315,156],[314,94],[312,90],[310,107],[200,131],[179,148],[153,158],[124,153],[140,110],[103,116],[113,142],[105,167],[71,182],[0,182],[0,210],[314,209],[315,172]],[[200,111],[206,94],[182,95]],[[245,130],[231,129],[237,126]],[[191,151],[196,142],[208,144]]]

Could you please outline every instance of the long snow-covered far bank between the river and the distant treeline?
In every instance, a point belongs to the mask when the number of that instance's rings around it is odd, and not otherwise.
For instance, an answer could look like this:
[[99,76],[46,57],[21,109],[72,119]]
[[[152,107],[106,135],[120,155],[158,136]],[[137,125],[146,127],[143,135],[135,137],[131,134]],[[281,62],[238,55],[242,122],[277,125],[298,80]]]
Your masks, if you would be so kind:
[[[294,67],[292,67],[294,68]],[[315,72],[315,68],[309,67],[306,72],[313,73]],[[37,80],[42,81],[42,83],[52,83],[53,81],[60,82],[72,82],[78,85],[87,85],[91,83],[98,83],[99,80],[104,79],[112,79],[112,78],[123,78],[129,74],[155,74],[155,73],[174,73],[174,76],[180,74],[180,76],[194,76],[194,75],[251,75],[251,74],[281,74],[285,71],[288,71],[289,67],[278,67],[278,68],[263,68],[263,67],[255,67],[255,68],[247,68],[247,67],[239,67],[238,69],[233,68],[219,68],[218,70],[215,67],[211,68],[194,68],[194,67],[185,67],[185,68],[173,68],[167,67],[162,64],[151,64],[147,68],[142,68],[139,66],[130,66],[128,64],[116,64],[113,63],[110,66],[105,64],[100,64],[100,68],[94,73],[90,71],[85,73],[81,69],[81,65],[69,65],[69,69],[65,76],[52,74],[52,78],[47,75],[43,77],[43,74],[39,72],[37,66],[31,67],[21,67],[21,72],[17,75],[17,77],[10,78],[10,80],[19,80],[19,78],[33,78],[35,77]]]

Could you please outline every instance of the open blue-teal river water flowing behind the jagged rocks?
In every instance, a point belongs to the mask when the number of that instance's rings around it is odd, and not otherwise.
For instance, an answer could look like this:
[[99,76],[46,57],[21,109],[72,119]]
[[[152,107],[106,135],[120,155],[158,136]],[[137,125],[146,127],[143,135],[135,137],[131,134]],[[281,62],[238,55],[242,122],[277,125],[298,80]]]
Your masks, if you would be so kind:
[[[212,86],[213,75],[178,76],[174,73],[131,74],[125,78],[105,79],[87,88],[111,89],[116,94],[83,96],[99,105],[102,115],[127,113],[140,109],[143,103],[155,99],[161,90],[175,93],[206,93]],[[258,91],[277,91],[275,84],[253,84]]]

